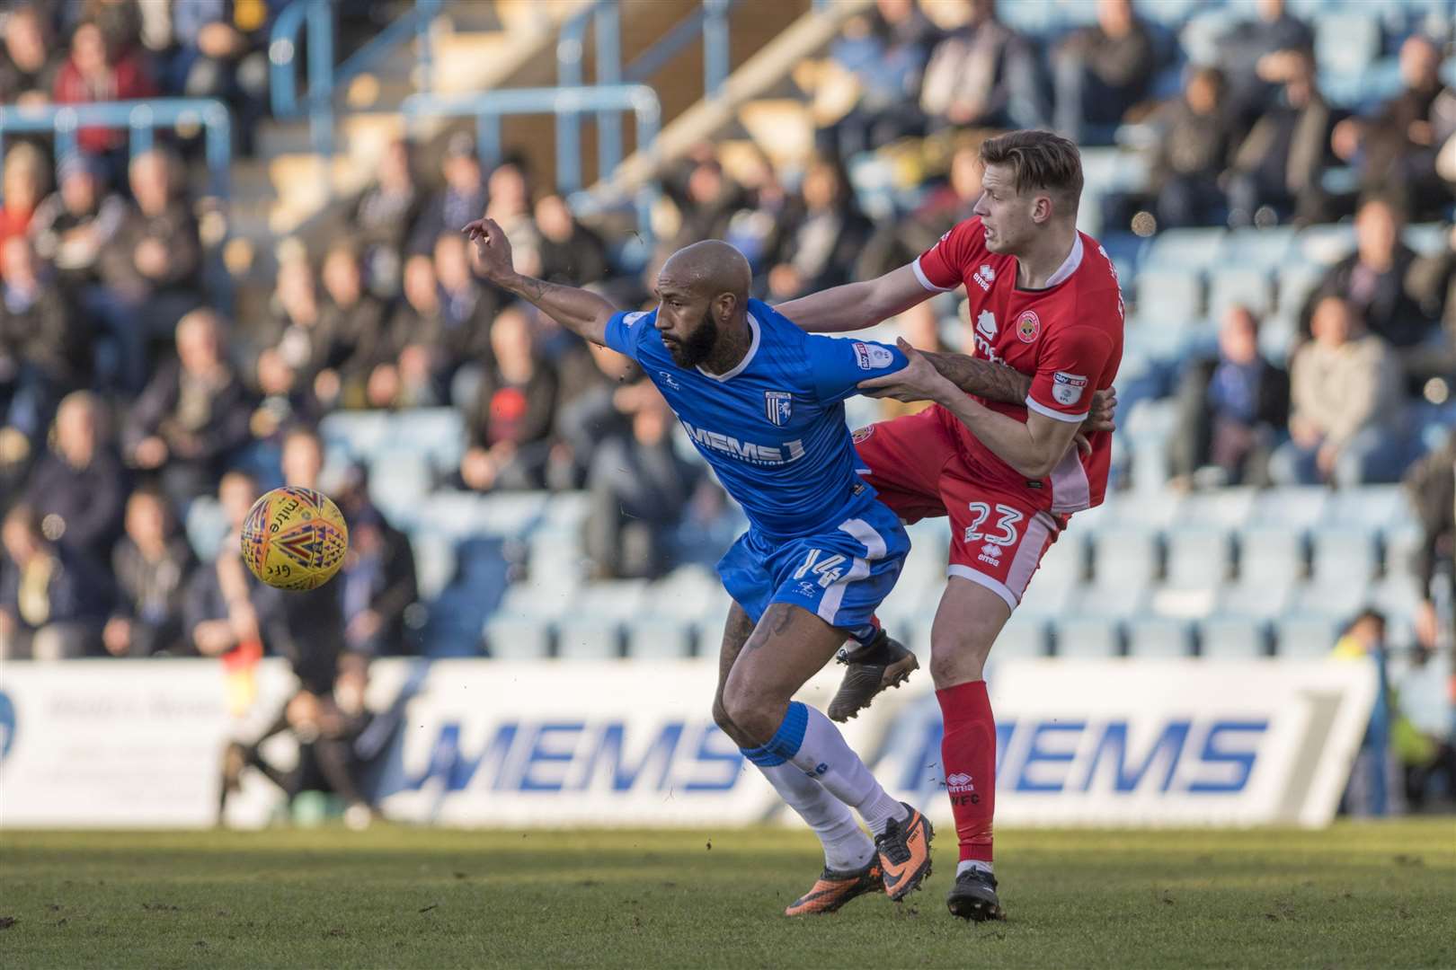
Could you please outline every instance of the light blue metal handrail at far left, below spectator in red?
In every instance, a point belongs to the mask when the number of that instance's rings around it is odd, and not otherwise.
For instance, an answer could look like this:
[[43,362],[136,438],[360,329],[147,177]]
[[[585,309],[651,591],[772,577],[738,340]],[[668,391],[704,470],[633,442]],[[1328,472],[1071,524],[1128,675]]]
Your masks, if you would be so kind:
[[55,157],[66,159],[77,150],[82,128],[130,128],[130,148],[135,157],[151,148],[156,128],[205,129],[204,151],[208,192],[218,198],[229,193],[229,166],[233,161],[233,122],[227,105],[213,97],[154,97],[114,100],[90,105],[42,105],[0,108],[0,156],[10,132],[54,132]]

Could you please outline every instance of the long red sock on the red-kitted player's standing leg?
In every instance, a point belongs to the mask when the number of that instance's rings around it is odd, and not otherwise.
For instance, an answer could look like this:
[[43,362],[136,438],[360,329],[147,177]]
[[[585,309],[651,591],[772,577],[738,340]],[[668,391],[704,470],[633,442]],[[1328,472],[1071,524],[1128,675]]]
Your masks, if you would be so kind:
[[961,839],[961,861],[992,861],[992,816],[996,814],[996,718],[986,681],[936,691],[945,737],[941,763]]

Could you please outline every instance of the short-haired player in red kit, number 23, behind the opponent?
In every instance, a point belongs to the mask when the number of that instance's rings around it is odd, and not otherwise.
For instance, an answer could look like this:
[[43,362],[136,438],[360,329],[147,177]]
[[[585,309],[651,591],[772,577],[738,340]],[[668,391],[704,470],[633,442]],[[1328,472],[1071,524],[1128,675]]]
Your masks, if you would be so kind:
[[[974,921],[1003,916],[992,864],[996,723],[986,657],[1072,513],[1102,502],[1111,452],[1104,409],[1115,404],[1109,388],[1123,356],[1117,272],[1096,240],[1076,228],[1076,145],[1045,131],[1016,131],[984,141],[980,153],[983,193],[973,217],[913,263],[778,307],[805,330],[858,330],[964,286],[977,366],[1005,365],[978,375],[986,391],[971,396],[960,390],[965,381],[954,382],[943,355],[901,340],[909,366],[860,388],[933,404],[855,435],[860,474],[881,502],[907,521],[951,521],[930,676],[961,852],[946,905]],[[1099,400],[1104,391],[1111,404]],[[914,660],[894,646],[907,657],[898,670],[893,657],[842,653],[850,670],[840,694],[863,684],[866,670],[884,669],[885,684],[907,676]],[[862,707],[871,697],[862,691],[850,700]],[[858,707],[846,702],[846,710]]]

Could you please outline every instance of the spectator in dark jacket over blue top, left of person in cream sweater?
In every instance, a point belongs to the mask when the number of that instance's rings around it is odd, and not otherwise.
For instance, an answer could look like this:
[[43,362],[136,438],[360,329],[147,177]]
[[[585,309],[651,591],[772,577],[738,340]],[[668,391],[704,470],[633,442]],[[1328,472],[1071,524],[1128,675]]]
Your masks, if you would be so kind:
[[1219,356],[1192,362],[1178,388],[1175,481],[1187,487],[1213,473],[1216,484],[1267,486],[1287,426],[1289,374],[1259,355],[1259,321],[1248,307],[1229,307]]

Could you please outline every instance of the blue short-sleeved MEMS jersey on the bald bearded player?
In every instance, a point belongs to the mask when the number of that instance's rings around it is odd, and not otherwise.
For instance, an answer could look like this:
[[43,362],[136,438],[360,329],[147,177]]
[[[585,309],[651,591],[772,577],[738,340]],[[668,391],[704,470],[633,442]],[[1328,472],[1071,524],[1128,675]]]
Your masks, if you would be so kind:
[[677,366],[657,310],[612,317],[607,346],[642,365],[754,528],[786,538],[833,526],[875,494],[855,474],[843,401],[906,358],[805,333],[759,300],[748,301],[748,353],[728,374]]

